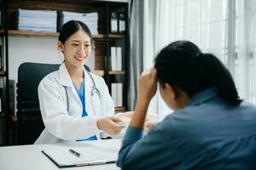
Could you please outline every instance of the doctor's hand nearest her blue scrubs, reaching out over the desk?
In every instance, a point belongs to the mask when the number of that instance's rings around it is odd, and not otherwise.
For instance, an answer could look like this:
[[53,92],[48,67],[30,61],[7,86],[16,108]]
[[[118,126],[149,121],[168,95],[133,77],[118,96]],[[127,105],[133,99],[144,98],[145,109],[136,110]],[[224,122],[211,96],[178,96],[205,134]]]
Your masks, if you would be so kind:
[[100,130],[112,136],[119,134],[124,128],[123,126],[119,125],[118,122],[122,122],[122,119],[120,119],[118,116],[109,116],[98,119],[96,124]]

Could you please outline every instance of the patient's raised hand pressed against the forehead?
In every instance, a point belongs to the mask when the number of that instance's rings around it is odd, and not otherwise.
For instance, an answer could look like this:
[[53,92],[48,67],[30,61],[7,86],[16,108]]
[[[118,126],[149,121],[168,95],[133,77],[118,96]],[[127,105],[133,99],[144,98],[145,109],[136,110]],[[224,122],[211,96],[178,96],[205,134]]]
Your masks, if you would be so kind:
[[151,68],[149,71],[143,71],[142,75],[138,79],[139,94],[137,99],[150,101],[157,89],[157,76],[156,70]]

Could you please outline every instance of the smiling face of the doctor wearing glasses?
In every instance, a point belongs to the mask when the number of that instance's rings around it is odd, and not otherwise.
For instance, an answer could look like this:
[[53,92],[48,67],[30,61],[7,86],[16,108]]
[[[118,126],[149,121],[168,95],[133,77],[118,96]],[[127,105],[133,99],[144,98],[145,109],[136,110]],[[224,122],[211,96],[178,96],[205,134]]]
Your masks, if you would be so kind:
[[58,47],[64,54],[67,67],[83,67],[91,53],[91,40],[85,31],[79,29],[64,44],[59,41]]

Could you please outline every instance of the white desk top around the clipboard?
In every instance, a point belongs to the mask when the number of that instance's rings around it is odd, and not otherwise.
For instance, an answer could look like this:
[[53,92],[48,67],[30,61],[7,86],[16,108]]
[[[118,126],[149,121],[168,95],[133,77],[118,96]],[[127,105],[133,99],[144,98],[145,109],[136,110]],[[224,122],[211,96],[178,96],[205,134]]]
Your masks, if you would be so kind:
[[[55,147],[96,147],[103,151],[113,151],[118,155],[121,146],[121,139],[106,139],[95,141],[84,141],[74,144],[29,144],[0,147],[0,169],[3,170],[55,170],[60,169],[44,156],[41,150]],[[87,167],[69,167],[61,169],[94,169],[94,170],[115,170],[119,169],[116,164],[105,164]]]

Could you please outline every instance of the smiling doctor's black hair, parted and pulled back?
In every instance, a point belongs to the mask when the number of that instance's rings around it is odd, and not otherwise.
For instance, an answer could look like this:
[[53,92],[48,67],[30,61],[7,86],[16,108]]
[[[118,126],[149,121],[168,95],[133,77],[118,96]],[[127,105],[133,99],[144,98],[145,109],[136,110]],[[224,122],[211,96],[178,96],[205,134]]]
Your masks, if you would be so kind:
[[61,27],[61,31],[60,31],[60,36],[58,38],[58,40],[64,44],[67,39],[73,35],[73,33],[75,33],[76,31],[79,31],[79,29],[81,29],[88,34],[88,36],[90,37],[90,42],[92,42],[92,37],[91,37],[91,33],[90,33],[90,29],[88,26],[86,26],[84,24],[84,22],[79,21],[79,20],[69,20],[68,22],[66,22],[62,27]]

